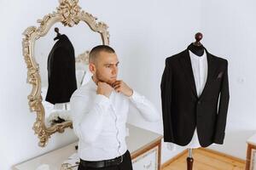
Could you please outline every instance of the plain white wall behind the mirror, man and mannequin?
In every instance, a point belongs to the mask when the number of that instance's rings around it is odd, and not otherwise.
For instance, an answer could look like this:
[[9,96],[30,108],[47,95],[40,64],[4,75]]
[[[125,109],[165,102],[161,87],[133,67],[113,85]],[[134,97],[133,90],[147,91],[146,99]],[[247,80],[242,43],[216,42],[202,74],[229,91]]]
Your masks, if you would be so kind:
[[[45,148],[38,147],[38,138],[32,131],[36,116],[28,110],[26,99],[31,85],[26,84],[21,33],[27,26],[38,26],[36,20],[51,13],[57,5],[57,0],[40,3],[26,0],[16,1],[15,4],[1,1],[0,15],[6,17],[2,19],[0,31],[0,74],[3,77],[0,85],[1,169],[9,169],[20,161],[42,155],[76,139],[72,130],[67,129],[65,133],[53,135]],[[110,44],[116,49],[121,62],[119,77],[153,101],[159,111],[160,77],[166,57],[182,51],[194,41],[195,32],[202,31],[205,36],[202,42],[208,50],[230,61],[229,131],[225,144],[214,149],[241,158],[245,158],[245,140],[253,130],[255,132],[253,16],[256,12],[253,12],[253,5],[253,1],[80,0],[80,6],[85,11],[108,24]],[[162,133],[161,122],[144,122],[136,111],[131,113],[128,122]],[[178,147],[171,152],[163,144],[162,162],[181,150],[183,148]]]

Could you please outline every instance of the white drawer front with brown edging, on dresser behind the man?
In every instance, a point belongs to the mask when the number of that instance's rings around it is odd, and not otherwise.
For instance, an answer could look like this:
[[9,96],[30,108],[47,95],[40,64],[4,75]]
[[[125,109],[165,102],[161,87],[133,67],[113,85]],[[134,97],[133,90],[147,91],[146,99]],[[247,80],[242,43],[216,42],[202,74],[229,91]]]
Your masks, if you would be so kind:
[[151,150],[144,152],[132,160],[134,170],[157,170],[158,169],[158,150],[155,146]]

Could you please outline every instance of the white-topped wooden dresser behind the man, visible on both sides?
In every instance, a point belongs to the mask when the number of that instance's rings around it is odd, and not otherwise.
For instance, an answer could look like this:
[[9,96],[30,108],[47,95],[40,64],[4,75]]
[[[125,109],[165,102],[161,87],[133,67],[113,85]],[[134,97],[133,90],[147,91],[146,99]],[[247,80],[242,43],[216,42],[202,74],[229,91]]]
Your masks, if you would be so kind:
[[[126,124],[129,128],[129,136],[126,137],[128,150],[131,152],[132,167],[134,170],[160,170],[160,153],[162,135],[153,133],[131,124]],[[67,146],[53,150],[43,156],[38,156],[29,161],[15,165],[15,170],[35,170],[39,165],[47,164],[50,170],[60,170],[63,161],[73,153],[76,153],[75,145]],[[70,168],[67,168],[70,169]],[[71,168],[77,170],[77,167]]]

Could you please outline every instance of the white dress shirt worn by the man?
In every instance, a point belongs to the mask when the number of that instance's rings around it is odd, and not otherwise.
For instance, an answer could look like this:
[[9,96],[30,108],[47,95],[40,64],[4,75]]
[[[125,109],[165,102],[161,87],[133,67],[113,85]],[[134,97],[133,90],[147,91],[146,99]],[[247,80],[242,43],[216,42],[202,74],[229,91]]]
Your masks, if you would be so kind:
[[90,79],[71,97],[73,130],[79,137],[79,156],[86,161],[113,159],[125,153],[125,122],[130,103],[148,122],[160,119],[154,105],[136,91],[131,97],[126,97],[113,90],[107,98],[96,94],[96,89],[96,83]]

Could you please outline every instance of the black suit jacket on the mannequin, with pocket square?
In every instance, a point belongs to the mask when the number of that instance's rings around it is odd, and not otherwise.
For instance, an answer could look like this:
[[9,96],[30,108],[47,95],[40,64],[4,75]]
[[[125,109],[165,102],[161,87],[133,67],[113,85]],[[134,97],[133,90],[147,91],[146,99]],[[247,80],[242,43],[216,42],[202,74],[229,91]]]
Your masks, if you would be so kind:
[[196,127],[202,147],[223,144],[230,99],[228,61],[207,52],[207,63],[207,82],[197,97],[189,49],[166,59],[160,84],[165,142],[189,144]]

